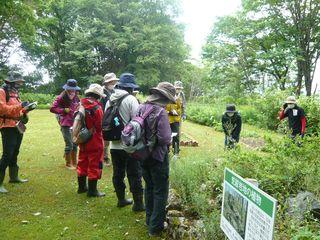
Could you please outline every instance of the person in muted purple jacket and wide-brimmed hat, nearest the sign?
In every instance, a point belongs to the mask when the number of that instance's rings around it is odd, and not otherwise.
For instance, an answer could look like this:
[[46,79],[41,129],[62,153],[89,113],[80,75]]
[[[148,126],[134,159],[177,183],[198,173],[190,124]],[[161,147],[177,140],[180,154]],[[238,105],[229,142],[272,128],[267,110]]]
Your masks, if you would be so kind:
[[142,162],[145,181],[146,224],[150,236],[157,236],[165,229],[166,205],[169,193],[169,146],[171,128],[165,106],[175,102],[176,90],[171,83],[161,82],[150,89],[150,96],[139,108],[139,114],[153,107],[146,118],[146,140],[152,144],[149,158]]

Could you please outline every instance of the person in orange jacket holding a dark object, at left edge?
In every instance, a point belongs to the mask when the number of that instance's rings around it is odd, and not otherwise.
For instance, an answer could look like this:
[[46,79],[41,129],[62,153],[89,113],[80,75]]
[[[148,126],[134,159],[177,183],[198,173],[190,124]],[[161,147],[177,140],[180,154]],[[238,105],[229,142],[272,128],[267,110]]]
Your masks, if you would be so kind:
[[22,75],[9,72],[5,84],[0,89],[0,131],[3,152],[0,160],[0,193],[8,191],[3,186],[5,173],[9,167],[10,183],[24,183],[28,180],[18,177],[17,164],[23,138],[24,124],[28,121],[27,113],[35,108],[29,102],[21,102],[19,88],[23,85]]

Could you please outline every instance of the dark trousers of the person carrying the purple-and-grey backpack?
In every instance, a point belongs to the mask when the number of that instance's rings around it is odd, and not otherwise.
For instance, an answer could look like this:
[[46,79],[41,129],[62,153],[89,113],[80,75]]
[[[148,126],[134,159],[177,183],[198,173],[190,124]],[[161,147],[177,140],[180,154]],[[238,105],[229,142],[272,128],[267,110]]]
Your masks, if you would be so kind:
[[146,183],[145,205],[146,223],[149,233],[158,233],[164,228],[166,205],[169,193],[169,156],[163,162],[148,159],[142,166],[142,175]]

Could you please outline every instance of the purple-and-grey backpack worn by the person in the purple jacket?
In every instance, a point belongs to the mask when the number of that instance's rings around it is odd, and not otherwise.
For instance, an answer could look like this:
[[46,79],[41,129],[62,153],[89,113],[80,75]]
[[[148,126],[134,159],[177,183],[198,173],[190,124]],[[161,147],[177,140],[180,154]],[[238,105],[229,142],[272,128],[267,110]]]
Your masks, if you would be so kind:
[[133,158],[145,160],[151,154],[154,143],[148,143],[145,136],[145,119],[154,111],[154,106],[148,105],[145,112],[135,116],[121,132],[123,150]]

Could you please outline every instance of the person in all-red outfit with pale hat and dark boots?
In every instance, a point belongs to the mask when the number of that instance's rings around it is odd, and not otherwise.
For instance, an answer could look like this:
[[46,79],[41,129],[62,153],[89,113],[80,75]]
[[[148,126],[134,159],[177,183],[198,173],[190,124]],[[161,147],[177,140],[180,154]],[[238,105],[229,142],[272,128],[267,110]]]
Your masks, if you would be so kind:
[[[92,138],[85,144],[80,144],[78,159],[78,193],[87,192],[88,197],[103,197],[104,193],[97,190],[98,179],[101,178],[104,142],[102,137],[103,111],[100,99],[106,97],[99,84],[91,84],[85,91],[81,105],[85,108],[85,123],[88,129],[93,129]],[[88,178],[88,186],[87,186]]]

